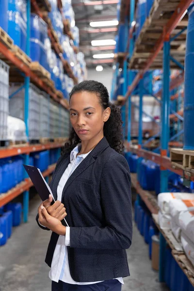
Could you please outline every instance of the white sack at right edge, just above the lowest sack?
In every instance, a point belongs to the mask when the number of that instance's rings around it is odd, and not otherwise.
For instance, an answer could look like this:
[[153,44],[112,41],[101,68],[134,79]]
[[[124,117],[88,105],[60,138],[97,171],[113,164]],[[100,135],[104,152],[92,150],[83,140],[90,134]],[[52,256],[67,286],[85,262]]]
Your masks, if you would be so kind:
[[179,226],[185,235],[194,242],[194,207],[188,208],[179,214]]

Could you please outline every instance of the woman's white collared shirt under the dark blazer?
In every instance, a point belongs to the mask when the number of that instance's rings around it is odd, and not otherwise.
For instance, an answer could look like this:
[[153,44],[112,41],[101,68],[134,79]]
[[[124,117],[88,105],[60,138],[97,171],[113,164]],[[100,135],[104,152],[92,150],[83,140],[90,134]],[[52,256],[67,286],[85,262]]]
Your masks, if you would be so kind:
[[[65,169],[63,176],[59,181],[59,185],[57,187],[57,200],[61,201],[62,193],[67,179],[70,175],[75,171],[78,165],[85,159],[85,157],[92,151],[87,154],[82,154],[77,156],[80,150],[80,146],[76,146],[70,153],[70,162]],[[70,227],[66,227],[65,237],[60,235],[57,241],[55,251],[52,258],[51,269],[49,272],[49,278],[52,281],[58,282],[59,280],[68,283],[68,284],[77,284],[77,285],[88,285],[88,284],[96,284],[102,281],[97,282],[76,282],[70,275],[69,271],[69,263],[68,263],[68,254],[67,254],[67,246],[70,245]],[[123,278],[116,278],[119,282],[124,284]]]

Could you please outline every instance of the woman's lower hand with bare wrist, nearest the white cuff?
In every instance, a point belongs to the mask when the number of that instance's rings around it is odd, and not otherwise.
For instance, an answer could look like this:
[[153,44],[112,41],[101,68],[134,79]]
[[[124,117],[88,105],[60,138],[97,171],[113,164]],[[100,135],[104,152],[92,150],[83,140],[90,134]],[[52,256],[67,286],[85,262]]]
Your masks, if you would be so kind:
[[49,215],[48,211],[43,205],[38,208],[38,215],[41,225],[46,226],[59,235],[65,235],[66,227],[62,225],[59,219]]

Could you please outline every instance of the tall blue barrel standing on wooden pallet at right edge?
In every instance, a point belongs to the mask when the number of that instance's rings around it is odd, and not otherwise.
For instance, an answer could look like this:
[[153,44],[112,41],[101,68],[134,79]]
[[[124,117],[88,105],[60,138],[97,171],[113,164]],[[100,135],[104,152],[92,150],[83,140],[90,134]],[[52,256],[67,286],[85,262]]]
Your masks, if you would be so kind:
[[185,57],[185,96],[184,96],[184,146],[185,150],[194,150],[194,135],[191,130],[194,124],[194,4],[190,5],[187,27]]

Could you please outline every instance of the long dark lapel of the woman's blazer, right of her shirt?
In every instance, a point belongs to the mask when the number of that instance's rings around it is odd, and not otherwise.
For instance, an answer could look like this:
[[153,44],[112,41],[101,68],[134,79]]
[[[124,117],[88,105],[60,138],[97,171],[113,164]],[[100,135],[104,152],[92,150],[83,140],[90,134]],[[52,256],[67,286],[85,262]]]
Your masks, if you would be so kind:
[[[73,182],[73,180],[75,180],[75,178],[77,178],[83,171],[85,171],[87,169],[87,167],[89,167],[89,165],[91,165],[93,162],[95,162],[97,156],[103,150],[105,150],[108,146],[109,146],[109,143],[107,142],[107,139],[105,137],[103,137],[101,139],[101,141],[97,144],[97,146],[95,146],[95,148],[91,151],[91,153],[89,153],[89,155],[78,165],[78,167],[75,169],[75,171],[71,174],[71,176],[68,178],[68,180],[65,183],[65,187],[63,189],[63,194],[62,194],[62,201],[63,201],[63,197],[64,197],[64,194],[65,194],[67,187]],[[67,165],[68,165],[68,163],[67,163]],[[66,165],[66,167],[67,167],[67,165]],[[63,175],[63,173],[62,173],[62,175]],[[59,183],[59,181],[60,181],[60,179],[58,180],[58,183]]]

